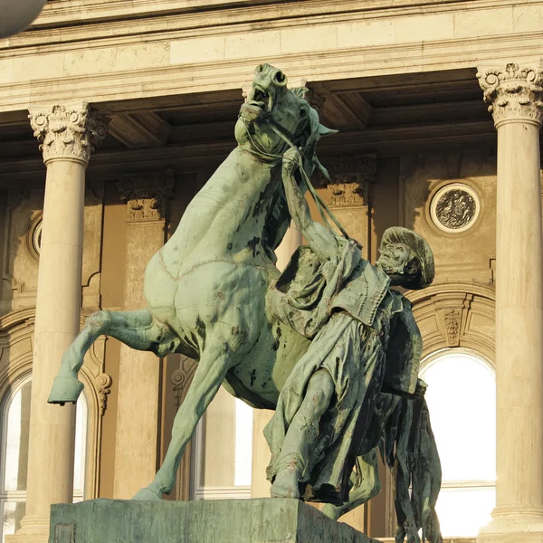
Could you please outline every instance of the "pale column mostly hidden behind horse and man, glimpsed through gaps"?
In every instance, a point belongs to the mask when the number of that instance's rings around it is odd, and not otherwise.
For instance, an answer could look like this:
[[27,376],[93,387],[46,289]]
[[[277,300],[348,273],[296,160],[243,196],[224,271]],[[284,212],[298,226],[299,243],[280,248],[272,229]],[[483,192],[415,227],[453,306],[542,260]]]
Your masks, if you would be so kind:
[[[301,233],[294,222],[281,245],[275,251],[277,256],[277,267],[284,270],[291,260],[292,253],[301,244]],[[270,498],[270,482],[266,479],[266,468],[270,463],[271,452],[264,438],[264,427],[270,422],[273,411],[267,409],[254,409],[252,412],[252,476],[251,476],[251,497]]]

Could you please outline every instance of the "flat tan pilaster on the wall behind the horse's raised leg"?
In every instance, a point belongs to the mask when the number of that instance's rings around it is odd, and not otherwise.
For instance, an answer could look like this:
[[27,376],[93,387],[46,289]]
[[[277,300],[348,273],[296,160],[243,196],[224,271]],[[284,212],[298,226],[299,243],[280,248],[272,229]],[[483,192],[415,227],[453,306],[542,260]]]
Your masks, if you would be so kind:
[[[118,184],[127,202],[127,269],[124,309],[147,307],[143,276],[166,241],[167,198],[173,172],[124,176]],[[121,345],[113,494],[129,499],[155,478],[158,463],[160,360],[153,353]]]

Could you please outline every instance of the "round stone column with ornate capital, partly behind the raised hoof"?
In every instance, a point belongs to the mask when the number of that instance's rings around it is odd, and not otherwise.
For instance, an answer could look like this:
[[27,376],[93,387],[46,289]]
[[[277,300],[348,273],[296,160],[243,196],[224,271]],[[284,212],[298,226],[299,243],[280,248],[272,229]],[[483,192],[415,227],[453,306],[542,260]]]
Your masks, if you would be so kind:
[[62,355],[80,330],[85,169],[107,123],[88,104],[30,108],[47,167],[33,338],[26,514],[12,543],[49,540],[52,503],[70,503],[75,405],[47,404]]

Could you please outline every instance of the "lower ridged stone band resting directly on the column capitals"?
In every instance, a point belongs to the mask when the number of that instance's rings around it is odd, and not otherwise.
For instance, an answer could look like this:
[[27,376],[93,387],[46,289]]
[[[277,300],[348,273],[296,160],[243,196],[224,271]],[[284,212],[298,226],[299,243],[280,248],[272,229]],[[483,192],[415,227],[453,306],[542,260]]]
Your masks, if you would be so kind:
[[[281,65],[292,79],[308,82],[371,77],[410,71],[443,71],[477,65],[528,63],[533,51],[543,50],[538,32],[449,39],[425,43],[390,44],[364,48],[334,49],[321,54],[282,54],[268,62]],[[383,58],[387,59],[383,64]],[[251,73],[248,66],[259,58],[235,61],[168,65],[156,68],[65,76],[42,81],[0,84],[0,112],[25,110],[29,104],[63,100],[101,102],[167,97],[179,93],[240,89]],[[195,77],[195,73],[198,74]],[[475,80],[475,72],[473,73]],[[45,83],[46,81],[46,83]],[[99,107],[100,108],[100,107]],[[107,111],[104,111],[107,113]]]

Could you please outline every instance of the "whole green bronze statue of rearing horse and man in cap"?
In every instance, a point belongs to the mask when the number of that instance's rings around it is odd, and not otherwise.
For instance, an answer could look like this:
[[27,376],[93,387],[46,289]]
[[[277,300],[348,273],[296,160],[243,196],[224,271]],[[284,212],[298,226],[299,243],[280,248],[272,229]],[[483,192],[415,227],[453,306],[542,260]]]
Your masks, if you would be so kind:
[[[257,67],[235,127],[238,147],[148,263],[148,308],[91,315],[49,401],[77,400],[84,354],[102,334],[158,357],[194,357],[165,461],[136,500],[173,490],[186,443],[224,385],[249,405],[276,409],[265,431],[272,496],[324,501],[338,518],[379,490],[380,447],[396,474],[396,539],[416,542],[422,528],[437,543],[441,471],[417,382],[421,338],[408,300],[390,289],[424,288],[433,255],[417,234],[392,228],[376,265],[362,259],[310,186],[316,167],[326,175],[316,144],[333,131],[319,124],[305,91],[289,90],[269,64]],[[343,237],[311,220],[308,189]],[[280,276],[274,250],[291,218],[309,246]]]

